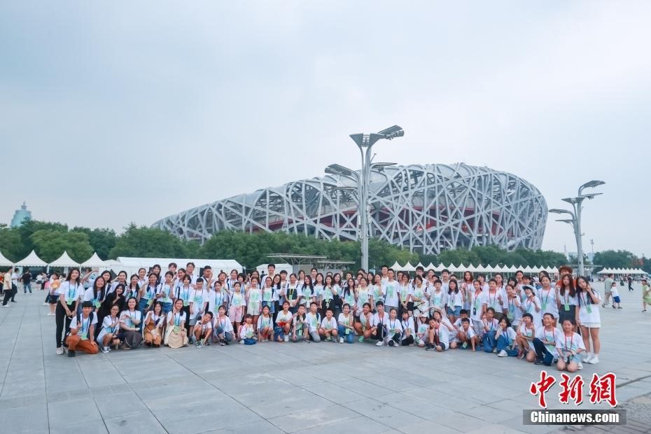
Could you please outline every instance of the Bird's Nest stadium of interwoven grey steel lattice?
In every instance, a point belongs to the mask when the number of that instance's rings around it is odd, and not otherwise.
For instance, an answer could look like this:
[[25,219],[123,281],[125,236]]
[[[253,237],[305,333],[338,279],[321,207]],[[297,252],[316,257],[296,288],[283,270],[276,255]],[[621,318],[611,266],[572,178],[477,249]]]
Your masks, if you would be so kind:
[[[418,253],[482,245],[537,249],[547,221],[547,203],[537,188],[488,167],[377,165],[369,195],[371,236]],[[193,208],[153,227],[202,242],[219,230],[354,240],[357,177],[293,181]]]

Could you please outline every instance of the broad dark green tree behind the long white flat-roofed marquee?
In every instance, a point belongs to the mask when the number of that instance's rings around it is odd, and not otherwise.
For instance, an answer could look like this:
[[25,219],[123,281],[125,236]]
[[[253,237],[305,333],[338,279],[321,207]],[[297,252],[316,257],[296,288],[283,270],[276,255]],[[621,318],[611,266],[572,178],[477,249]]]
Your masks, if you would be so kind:
[[169,232],[157,228],[136,226],[125,228],[111,248],[109,257],[134,256],[143,258],[184,258],[186,246],[183,241]]

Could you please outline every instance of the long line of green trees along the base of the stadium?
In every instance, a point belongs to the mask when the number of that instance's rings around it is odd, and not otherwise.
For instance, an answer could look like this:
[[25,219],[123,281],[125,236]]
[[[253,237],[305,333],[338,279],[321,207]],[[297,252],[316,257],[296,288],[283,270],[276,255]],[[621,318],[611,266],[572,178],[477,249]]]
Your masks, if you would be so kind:
[[[9,260],[25,258],[34,249],[45,262],[57,259],[63,251],[78,262],[90,258],[94,251],[100,258],[115,259],[118,256],[158,258],[205,258],[235,259],[244,267],[252,268],[270,262],[269,253],[293,253],[323,255],[333,260],[355,262],[349,268],[360,266],[360,244],[358,241],[326,241],[304,235],[283,232],[221,231],[203,245],[197,241],[185,241],[164,230],[145,226],[129,225],[120,235],[108,228],[69,228],[63,223],[26,221],[20,228],[0,228],[0,251]],[[391,265],[407,261],[412,265],[422,262],[440,262],[449,265],[545,265],[560,266],[567,262],[565,255],[554,251],[533,251],[518,248],[505,251],[496,246],[477,246],[470,250],[458,248],[442,251],[439,255],[423,255],[393,246],[380,239],[369,241],[369,262],[371,267]],[[638,261],[633,265],[634,261]],[[646,262],[644,262],[646,261]],[[595,253],[594,263],[604,267],[644,267],[650,271],[645,258],[639,264],[629,251],[603,251]]]

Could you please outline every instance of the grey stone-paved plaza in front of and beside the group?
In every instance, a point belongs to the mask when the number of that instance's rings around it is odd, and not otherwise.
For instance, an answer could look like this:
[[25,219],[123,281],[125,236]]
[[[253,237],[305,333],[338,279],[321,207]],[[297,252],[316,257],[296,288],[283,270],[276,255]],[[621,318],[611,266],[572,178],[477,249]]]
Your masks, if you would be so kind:
[[[603,284],[596,283],[603,290]],[[617,374],[631,425],[649,429],[651,310],[620,286],[624,309],[602,309],[599,365]],[[55,354],[43,291],[0,309],[0,432],[5,433],[546,433],[523,426],[540,368],[470,351],[372,344],[231,344],[137,349],[76,358]],[[553,372],[556,378],[556,370]],[[559,388],[550,408],[563,408]],[[584,388],[589,393],[589,387]],[[635,399],[633,399],[635,398]],[[572,405],[573,406],[573,405]],[[641,406],[641,407],[640,407]],[[581,408],[594,408],[583,405]],[[605,407],[605,405],[597,406]],[[571,407],[570,407],[571,408]],[[641,409],[640,409],[641,408]],[[647,419],[644,419],[646,414]],[[596,432],[597,428],[587,428]]]

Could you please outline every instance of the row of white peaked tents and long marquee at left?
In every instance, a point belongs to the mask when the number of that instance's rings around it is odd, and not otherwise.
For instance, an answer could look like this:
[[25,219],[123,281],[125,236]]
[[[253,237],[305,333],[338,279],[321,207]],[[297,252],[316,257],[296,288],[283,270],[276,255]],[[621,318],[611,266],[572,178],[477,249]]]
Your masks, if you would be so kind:
[[93,253],[90,258],[84,262],[76,262],[73,260],[68,252],[64,251],[59,258],[52,262],[45,262],[38,258],[35,251],[31,251],[27,258],[19,260],[18,262],[11,262],[0,252],[0,267],[89,267],[97,268],[100,271],[111,269],[114,272],[125,271],[127,274],[136,274],[139,268],[150,269],[158,264],[163,269],[167,269],[167,265],[171,262],[176,262],[179,267],[185,267],[188,262],[195,262],[197,267],[205,267],[210,265],[213,269],[228,270],[237,269],[238,272],[243,271],[243,267],[237,260],[215,260],[215,259],[192,259],[192,258],[127,258],[120,256],[117,260],[102,260],[97,253]]

